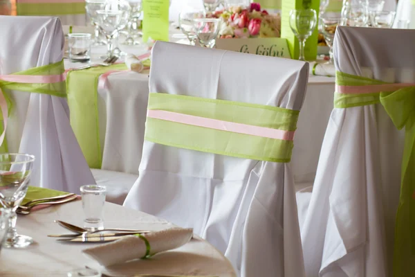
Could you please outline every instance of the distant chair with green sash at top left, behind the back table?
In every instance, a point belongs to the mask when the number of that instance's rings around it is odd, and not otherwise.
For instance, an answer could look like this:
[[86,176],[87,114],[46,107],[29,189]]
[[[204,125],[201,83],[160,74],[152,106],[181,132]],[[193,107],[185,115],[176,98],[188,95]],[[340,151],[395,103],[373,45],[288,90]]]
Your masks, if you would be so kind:
[[86,25],[85,2],[80,0],[16,0],[17,15],[55,16],[62,25]]

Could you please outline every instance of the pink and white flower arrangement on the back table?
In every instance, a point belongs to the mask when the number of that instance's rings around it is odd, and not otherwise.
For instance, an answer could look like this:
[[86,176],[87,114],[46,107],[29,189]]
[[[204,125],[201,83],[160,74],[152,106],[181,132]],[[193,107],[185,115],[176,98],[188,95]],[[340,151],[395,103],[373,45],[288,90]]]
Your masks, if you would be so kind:
[[216,10],[208,16],[222,19],[220,38],[280,37],[281,16],[261,10],[259,3]]

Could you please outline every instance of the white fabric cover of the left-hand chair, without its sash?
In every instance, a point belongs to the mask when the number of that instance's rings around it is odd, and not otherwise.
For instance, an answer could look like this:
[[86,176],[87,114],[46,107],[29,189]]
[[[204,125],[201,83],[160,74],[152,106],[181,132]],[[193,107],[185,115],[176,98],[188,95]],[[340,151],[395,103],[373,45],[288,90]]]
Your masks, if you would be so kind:
[[[24,71],[62,60],[64,35],[56,17],[0,16],[1,70]],[[6,91],[13,101],[6,138],[9,152],[35,155],[31,185],[79,193],[95,184],[69,125],[65,98]]]

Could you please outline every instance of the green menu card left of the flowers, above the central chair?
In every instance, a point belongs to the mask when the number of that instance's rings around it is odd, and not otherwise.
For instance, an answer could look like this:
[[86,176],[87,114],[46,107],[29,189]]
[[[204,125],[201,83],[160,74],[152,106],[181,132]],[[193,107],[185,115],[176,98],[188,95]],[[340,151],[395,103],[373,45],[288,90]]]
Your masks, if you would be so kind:
[[147,42],[151,37],[154,40],[169,41],[169,0],[142,1],[142,41]]

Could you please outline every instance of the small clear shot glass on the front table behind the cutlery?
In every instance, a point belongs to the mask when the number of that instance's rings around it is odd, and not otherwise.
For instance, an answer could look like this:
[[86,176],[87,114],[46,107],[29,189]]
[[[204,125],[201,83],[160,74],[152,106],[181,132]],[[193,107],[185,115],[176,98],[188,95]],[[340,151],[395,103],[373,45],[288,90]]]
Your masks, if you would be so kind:
[[89,231],[104,229],[104,203],[107,189],[104,186],[85,185],[81,187],[84,228]]

